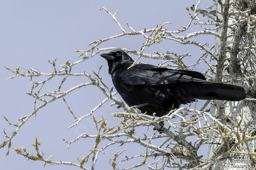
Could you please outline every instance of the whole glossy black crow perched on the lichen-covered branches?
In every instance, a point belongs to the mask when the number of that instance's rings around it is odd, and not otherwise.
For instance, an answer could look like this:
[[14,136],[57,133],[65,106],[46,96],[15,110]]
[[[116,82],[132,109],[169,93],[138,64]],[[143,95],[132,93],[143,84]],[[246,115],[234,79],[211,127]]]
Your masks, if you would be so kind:
[[[141,105],[139,109],[156,116],[166,115],[195,99],[240,101],[246,97],[244,88],[235,85],[206,81],[196,71],[173,70],[150,64],[136,64],[122,50],[100,54],[108,61],[108,72],[113,84],[129,106]],[[173,106],[173,107],[172,107]]]

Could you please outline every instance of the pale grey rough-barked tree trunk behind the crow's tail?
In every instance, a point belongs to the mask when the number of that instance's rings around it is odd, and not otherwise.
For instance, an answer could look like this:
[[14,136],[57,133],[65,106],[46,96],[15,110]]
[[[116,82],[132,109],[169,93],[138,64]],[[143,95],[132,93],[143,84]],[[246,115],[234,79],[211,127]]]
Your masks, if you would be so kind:
[[[219,1],[220,2],[220,1]],[[220,29],[217,32],[221,35],[221,39],[215,39],[215,53],[218,55],[218,61],[215,61],[216,65],[216,82],[228,81],[228,84],[234,84],[244,87],[247,97],[246,98],[256,98],[256,86],[255,86],[255,75],[256,75],[256,51],[255,51],[255,40],[256,40],[256,27],[255,20],[252,22],[249,16],[245,14],[234,14],[230,15],[234,11],[248,11],[249,15],[254,15],[256,13],[256,5],[254,0],[237,0],[229,1],[222,0],[223,4],[218,3],[216,7],[216,17],[217,21],[221,23]],[[222,11],[222,12],[221,12]],[[238,15],[241,16],[240,20]],[[247,19],[245,19],[247,18]],[[239,20],[239,21],[238,21]],[[238,21],[238,22],[237,22]],[[252,22],[252,23],[251,23]],[[254,24],[253,24],[254,23]],[[254,26],[253,26],[254,25]],[[232,81],[229,81],[232,79]],[[238,128],[242,133],[245,128],[245,124],[252,118],[251,123],[248,124],[246,135],[255,136],[256,135],[256,117],[255,115],[256,104],[252,100],[243,100],[240,102],[227,102],[227,101],[212,101],[211,103],[211,114],[221,119],[223,124],[228,125],[231,129],[236,131],[234,124],[229,121],[223,113],[238,123],[241,120],[241,113],[243,112],[243,120]],[[212,135],[217,135],[212,132]],[[219,136],[218,142],[222,143],[223,138]],[[213,141],[216,142],[216,141]],[[229,147],[235,144],[235,141],[228,141]],[[217,153],[212,152],[219,145],[210,145],[208,151],[208,159],[217,158],[222,153],[228,151],[228,145],[225,144],[218,150]],[[249,141],[244,144],[238,145],[234,150],[237,152],[255,152],[255,140]],[[229,165],[223,169],[241,169],[236,168],[234,165],[244,165],[253,166],[255,160],[252,156],[246,154],[231,153],[222,160],[248,160],[248,162],[238,162],[228,164],[214,164],[212,169],[222,169],[220,165]],[[252,161],[253,160],[253,161]],[[245,168],[246,169],[246,168]]]

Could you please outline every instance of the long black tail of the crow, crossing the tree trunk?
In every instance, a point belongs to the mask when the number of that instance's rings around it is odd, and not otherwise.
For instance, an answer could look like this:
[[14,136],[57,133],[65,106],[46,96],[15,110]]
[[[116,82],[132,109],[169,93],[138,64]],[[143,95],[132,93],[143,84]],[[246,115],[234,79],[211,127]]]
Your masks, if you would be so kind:
[[[201,90],[200,90],[201,89]],[[206,90],[204,90],[206,89]],[[240,101],[245,99],[246,93],[244,88],[231,84],[222,83],[207,83],[199,85],[199,92],[196,94],[197,99],[203,100],[228,100],[228,101]]]

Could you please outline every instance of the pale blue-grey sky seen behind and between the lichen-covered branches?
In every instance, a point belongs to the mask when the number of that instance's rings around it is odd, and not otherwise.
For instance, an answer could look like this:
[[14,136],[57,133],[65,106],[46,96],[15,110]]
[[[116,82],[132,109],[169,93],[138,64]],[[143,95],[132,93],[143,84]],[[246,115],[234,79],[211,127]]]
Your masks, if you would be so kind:
[[[0,86],[1,86],[1,115],[5,115],[10,122],[18,124],[18,119],[30,114],[34,108],[34,99],[25,93],[31,89],[29,77],[18,77],[4,81],[4,79],[13,74],[6,70],[4,66],[14,69],[20,66],[20,71],[23,72],[22,67],[34,68],[40,72],[51,73],[52,66],[47,59],[53,60],[57,58],[56,68],[60,70],[61,64],[70,60],[73,63],[78,59],[80,53],[75,50],[86,50],[87,45],[97,40],[104,39],[116,34],[122,33],[118,25],[113,21],[109,14],[104,10],[98,9],[102,6],[106,7],[111,13],[116,14],[117,20],[123,25],[127,31],[126,22],[129,23],[135,30],[143,30],[144,27],[154,28],[160,23],[171,22],[165,28],[169,30],[182,29],[181,25],[187,26],[190,20],[186,5],[192,6],[196,4],[195,0],[182,1],[1,1],[0,5]],[[199,8],[205,9],[212,4],[212,1],[202,1]],[[202,18],[202,17],[201,17]],[[206,19],[206,17],[205,17]],[[198,27],[192,25],[190,31],[198,31]],[[185,32],[185,33],[188,33]],[[185,35],[185,33],[183,35]],[[202,44],[208,42],[210,46],[214,44],[213,36],[199,36],[197,40]],[[110,40],[109,42],[100,45],[100,48],[106,47],[123,47],[133,50],[140,50],[145,39],[142,36],[128,36]],[[196,46],[180,45],[176,42],[166,41],[160,44],[147,47],[145,53],[153,53],[158,51],[164,53],[166,51],[177,53],[191,54],[191,57],[185,59],[186,64],[193,64],[197,58],[201,57],[203,51]],[[104,52],[107,53],[107,52]],[[137,57],[131,54],[135,60]],[[140,62],[146,62],[157,65],[161,60],[140,59]],[[99,55],[92,59],[76,65],[72,68],[73,73],[92,74],[92,70],[97,71],[103,65],[100,76],[103,81],[109,86],[113,86],[110,76],[108,75],[108,65],[106,60]],[[196,67],[195,71],[204,72],[207,69],[205,65]],[[37,78],[40,81],[46,77]],[[54,80],[45,84],[42,92],[54,91],[58,88],[63,77],[55,77]],[[89,82],[84,77],[70,77],[62,86],[62,90],[68,90],[78,84]],[[115,91],[115,90],[114,90]],[[119,95],[116,95],[120,99]],[[88,114],[95,106],[97,106],[106,97],[97,89],[97,87],[83,87],[69,93],[66,96],[70,108],[77,118]],[[108,118],[108,126],[119,124],[120,119],[109,116],[111,113],[123,109],[116,109],[116,106],[110,106],[111,101],[105,103],[99,110],[94,113],[97,120],[103,117]],[[199,104],[200,106],[200,104]],[[37,112],[37,116],[31,117],[26,124],[24,124],[18,134],[12,139],[12,147],[25,147],[31,154],[35,152],[31,143],[35,143],[35,137],[42,140],[42,150],[44,151],[44,158],[49,158],[53,155],[54,161],[59,159],[62,161],[72,161],[79,164],[77,158],[82,159],[83,155],[90,152],[90,148],[94,148],[94,139],[81,138],[77,142],[70,145],[67,149],[67,144],[62,138],[68,141],[76,138],[82,133],[96,135],[96,129],[92,116],[83,119],[79,125],[71,129],[68,126],[73,124],[74,117],[70,114],[66,104],[61,100],[47,104],[46,107]],[[11,135],[15,130],[13,126],[9,126],[4,118],[0,117],[0,143],[6,140],[3,133],[3,128],[8,135]],[[136,130],[137,136],[143,136],[143,133],[152,135],[153,127],[140,128]],[[100,145],[102,147],[104,145]],[[127,148],[124,155],[134,156],[136,154],[145,153],[145,148],[138,144],[127,144],[118,148],[116,145],[110,146],[106,149],[106,154],[99,154],[98,165],[96,169],[112,169],[109,165],[109,156],[114,157],[114,153],[118,150]],[[207,157],[207,146],[200,148],[198,155]],[[7,146],[0,149],[0,163],[1,169],[79,169],[78,167],[68,165],[46,165],[41,161],[24,161],[23,156],[12,152],[10,149],[9,156],[5,156]],[[91,159],[84,166],[91,168]],[[120,159],[121,160],[121,159]],[[128,164],[123,164],[120,167],[128,167],[140,163],[141,159],[132,160]],[[137,169],[145,169],[137,168]]]

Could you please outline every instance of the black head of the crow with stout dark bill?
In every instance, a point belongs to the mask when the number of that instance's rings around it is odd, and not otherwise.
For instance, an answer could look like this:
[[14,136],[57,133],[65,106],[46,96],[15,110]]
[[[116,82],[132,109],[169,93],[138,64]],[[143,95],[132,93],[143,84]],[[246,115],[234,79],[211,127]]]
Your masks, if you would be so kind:
[[134,62],[123,50],[112,50],[107,54],[100,54],[100,56],[108,61],[109,74],[113,74],[119,67],[130,66]]

